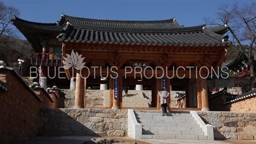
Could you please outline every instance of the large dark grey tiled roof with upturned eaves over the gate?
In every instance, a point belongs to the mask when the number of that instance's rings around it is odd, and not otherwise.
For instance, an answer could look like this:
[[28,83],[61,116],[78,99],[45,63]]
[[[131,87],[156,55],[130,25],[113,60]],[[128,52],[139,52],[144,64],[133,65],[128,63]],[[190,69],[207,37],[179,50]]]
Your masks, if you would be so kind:
[[[83,42],[126,45],[220,46],[229,45],[218,32],[228,27],[205,28],[180,26],[175,18],[168,20],[97,20],[61,15],[55,23],[12,19],[18,28],[26,26],[48,33],[58,32],[61,42]],[[22,31],[22,29],[20,29]],[[216,33],[214,33],[216,31]]]

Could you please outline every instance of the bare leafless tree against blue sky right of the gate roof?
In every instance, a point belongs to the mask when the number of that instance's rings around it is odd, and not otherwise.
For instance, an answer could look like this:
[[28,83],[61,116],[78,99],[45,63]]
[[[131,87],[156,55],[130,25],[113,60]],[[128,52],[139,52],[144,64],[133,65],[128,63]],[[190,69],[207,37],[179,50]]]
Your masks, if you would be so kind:
[[227,24],[229,33],[232,35],[233,43],[248,58],[251,79],[255,79],[254,52],[256,46],[256,3],[235,3],[233,5],[223,4],[218,8],[216,19],[205,18],[206,24]]

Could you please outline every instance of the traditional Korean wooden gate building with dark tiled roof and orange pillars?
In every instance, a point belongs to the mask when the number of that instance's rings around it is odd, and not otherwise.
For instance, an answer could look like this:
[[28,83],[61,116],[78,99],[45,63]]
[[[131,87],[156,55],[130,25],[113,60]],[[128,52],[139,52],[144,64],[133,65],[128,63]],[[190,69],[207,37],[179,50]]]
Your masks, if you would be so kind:
[[[125,109],[122,106],[124,84],[152,86],[153,108],[147,109],[160,109],[157,92],[161,88],[170,91],[170,85],[184,85],[187,108],[183,109],[209,111],[207,68],[210,73],[211,67],[218,69],[230,45],[228,36],[223,35],[228,31],[227,26],[186,28],[175,18],[97,20],[62,14],[54,23],[18,17],[13,17],[12,22],[37,52],[31,61],[42,68],[42,86],[53,83],[54,78],[49,79],[45,71],[47,67],[50,73],[54,72],[54,67],[62,65],[61,56],[70,58],[65,61],[74,67],[65,69],[65,76],[76,77],[74,108],[86,108],[86,84],[106,83],[109,84],[108,108]],[[71,54],[73,59],[66,54]],[[107,77],[106,81],[101,81],[102,77]],[[54,81],[69,83],[67,79]]]

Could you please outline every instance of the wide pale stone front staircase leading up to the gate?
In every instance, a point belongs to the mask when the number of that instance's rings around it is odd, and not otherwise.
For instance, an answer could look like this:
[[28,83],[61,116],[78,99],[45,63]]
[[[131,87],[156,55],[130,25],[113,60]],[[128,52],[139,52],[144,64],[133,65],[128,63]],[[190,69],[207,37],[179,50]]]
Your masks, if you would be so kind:
[[142,125],[141,139],[207,140],[189,111],[171,112],[167,116],[161,116],[161,111],[134,110],[134,115]]

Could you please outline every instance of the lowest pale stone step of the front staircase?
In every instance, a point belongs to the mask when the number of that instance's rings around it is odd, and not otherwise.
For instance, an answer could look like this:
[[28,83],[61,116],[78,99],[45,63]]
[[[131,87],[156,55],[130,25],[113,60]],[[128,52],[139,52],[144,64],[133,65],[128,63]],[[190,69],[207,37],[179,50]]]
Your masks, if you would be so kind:
[[154,135],[154,134],[142,134],[142,139],[170,139],[170,140],[207,140],[207,136],[198,136],[196,134],[180,135],[180,134],[166,134],[166,135]]

